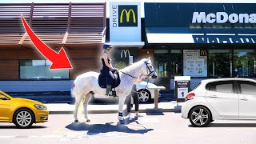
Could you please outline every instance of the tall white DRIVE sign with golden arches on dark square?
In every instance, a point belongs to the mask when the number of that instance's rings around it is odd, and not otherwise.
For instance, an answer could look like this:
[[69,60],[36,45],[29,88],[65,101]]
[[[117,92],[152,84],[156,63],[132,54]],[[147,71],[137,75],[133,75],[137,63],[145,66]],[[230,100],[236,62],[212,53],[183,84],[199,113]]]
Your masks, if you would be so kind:
[[141,41],[141,2],[110,2],[110,42]]

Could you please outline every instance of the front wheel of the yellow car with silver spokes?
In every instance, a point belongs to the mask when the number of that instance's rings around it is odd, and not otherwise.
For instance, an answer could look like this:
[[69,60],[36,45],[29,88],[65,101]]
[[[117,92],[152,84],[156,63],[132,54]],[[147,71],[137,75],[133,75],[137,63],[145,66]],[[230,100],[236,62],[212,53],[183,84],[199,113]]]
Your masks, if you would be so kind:
[[34,114],[31,110],[20,109],[14,114],[14,124],[20,129],[28,129],[34,123]]

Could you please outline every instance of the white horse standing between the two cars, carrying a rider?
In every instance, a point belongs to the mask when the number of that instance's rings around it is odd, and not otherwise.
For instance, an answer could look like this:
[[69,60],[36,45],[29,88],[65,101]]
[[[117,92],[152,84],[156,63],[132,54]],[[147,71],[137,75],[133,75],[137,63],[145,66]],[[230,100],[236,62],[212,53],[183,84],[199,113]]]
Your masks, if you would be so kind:
[[[142,60],[119,70],[119,74],[121,82],[115,90],[119,98],[118,120],[123,122],[123,105],[126,97],[132,90],[133,84],[136,82],[136,78],[141,76],[157,78],[157,74],[154,71],[150,58],[143,58]],[[78,106],[81,102],[83,102],[83,111],[86,122],[90,122],[87,112],[87,106],[90,98],[92,98],[93,94],[106,95],[106,89],[103,89],[98,85],[98,75],[99,73],[90,71],[85,74],[78,75],[78,77],[75,78],[73,84],[74,90],[72,90],[72,94],[75,96],[74,122],[78,122]]]

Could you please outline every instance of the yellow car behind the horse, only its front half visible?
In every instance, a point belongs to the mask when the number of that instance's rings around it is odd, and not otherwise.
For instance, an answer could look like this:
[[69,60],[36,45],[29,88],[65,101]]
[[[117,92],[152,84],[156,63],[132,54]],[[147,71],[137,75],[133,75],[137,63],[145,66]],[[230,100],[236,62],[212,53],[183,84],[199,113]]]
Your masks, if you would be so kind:
[[41,102],[12,98],[0,90],[0,122],[14,122],[18,128],[30,128],[33,123],[47,122],[49,111]]

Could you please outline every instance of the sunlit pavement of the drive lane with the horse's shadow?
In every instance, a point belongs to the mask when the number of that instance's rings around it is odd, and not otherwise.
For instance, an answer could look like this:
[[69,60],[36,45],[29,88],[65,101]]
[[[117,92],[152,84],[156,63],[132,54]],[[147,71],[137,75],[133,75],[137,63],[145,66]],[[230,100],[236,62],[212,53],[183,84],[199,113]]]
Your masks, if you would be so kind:
[[0,143],[256,143],[256,122],[216,121],[205,128],[190,126],[181,114],[152,113],[120,125],[117,114],[90,114],[91,122],[73,122],[72,114],[52,114],[50,121],[31,129],[0,123]]

